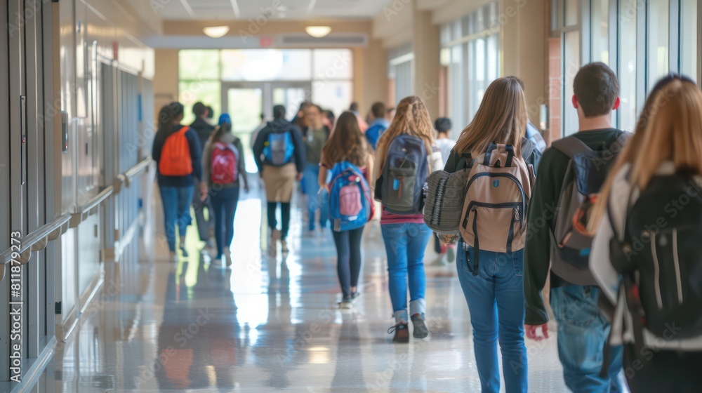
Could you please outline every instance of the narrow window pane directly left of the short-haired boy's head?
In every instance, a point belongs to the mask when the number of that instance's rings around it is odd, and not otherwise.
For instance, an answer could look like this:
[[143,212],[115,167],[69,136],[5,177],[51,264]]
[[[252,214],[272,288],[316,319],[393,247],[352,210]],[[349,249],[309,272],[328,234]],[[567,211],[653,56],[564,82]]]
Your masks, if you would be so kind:
[[563,34],[563,65],[564,65],[564,97],[563,97],[563,134],[571,135],[578,132],[578,112],[571,105],[573,97],[573,80],[581,67],[580,32],[565,32]]

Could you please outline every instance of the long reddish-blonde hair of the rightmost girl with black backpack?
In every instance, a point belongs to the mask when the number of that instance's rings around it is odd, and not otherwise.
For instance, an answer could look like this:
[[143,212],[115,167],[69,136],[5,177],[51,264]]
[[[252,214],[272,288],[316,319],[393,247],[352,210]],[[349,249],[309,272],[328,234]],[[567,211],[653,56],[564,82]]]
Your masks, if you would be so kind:
[[591,233],[607,209],[614,178],[626,164],[631,187],[644,189],[663,161],[676,171],[702,175],[702,91],[693,81],[667,76],[646,100],[636,132],[617,157],[590,215]]

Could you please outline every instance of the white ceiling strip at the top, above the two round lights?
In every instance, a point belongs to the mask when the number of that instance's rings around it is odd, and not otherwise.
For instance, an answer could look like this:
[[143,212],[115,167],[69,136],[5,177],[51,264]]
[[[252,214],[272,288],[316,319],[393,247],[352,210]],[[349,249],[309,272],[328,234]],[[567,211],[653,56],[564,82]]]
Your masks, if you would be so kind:
[[[144,0],[130,0],[142,2]],[[168,0],[156,1],[164,20],[307,20],[373,18],[392,0]],[[272,16],[273,15],[273,16]]]

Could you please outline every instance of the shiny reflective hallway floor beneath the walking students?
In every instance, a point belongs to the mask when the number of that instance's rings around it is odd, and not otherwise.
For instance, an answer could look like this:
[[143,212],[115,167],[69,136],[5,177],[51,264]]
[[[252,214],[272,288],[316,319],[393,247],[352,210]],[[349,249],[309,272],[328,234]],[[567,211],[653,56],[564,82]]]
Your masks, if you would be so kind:
[[[155,220],[143,233],[155,251],[106,263],[102,293],[34,392],[479,392],[455,264],[427,267],[430,338],[391,342],[378,222],[364,233],[362,296],[340,310],[331,233],[303,236],[299,208],[289,255],[262,259],[260,199],[244,195],[232,269],[200,255],[194,228],[191,257],[168,262]],[[555,343],[527,342],[529,392],[567,392]]]

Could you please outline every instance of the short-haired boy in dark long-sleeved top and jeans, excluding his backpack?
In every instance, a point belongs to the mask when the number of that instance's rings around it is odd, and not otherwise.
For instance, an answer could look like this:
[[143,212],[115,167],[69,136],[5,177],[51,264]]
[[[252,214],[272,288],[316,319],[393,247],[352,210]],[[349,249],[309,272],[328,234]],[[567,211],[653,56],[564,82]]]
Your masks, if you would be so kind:
[[[564,178],[570,162],[567,149],[562,147],[565,145],[559,143],[575,139],[572,142],[579,145],[583,142],[595,151],[613,146],[623,133],[611,126],[611,112],[619,106],[619,83],[616,74],[607,65],[594,62],[578,71],[573,91],[572,102],[578,112],[578,133],[554,142],[554,146],[544,152],[543,165],[536,176],[538,180],[531,199],[528,218],[530,235],[524,258],[527,307],[524,327],[527,338],[541,340],[536,335],[538,330],[548,338],[548,313],[542,291],[550,271],[550,304],[558,326],[558,354],[566,385],[574,392],[609,392],[610,389],[619,392],[617,374],[621,369],[621,347],[613,348],[609,378],[599,375],[602,346],[609,333],[609,322],[597,307],[600,289],[594,279],[589,279],[587,270],[576,272],[573,277],[562,277],[565,274],[558,267],[564,263],[573,264],[579,257],[570,255],[562,258],[560,255],[563,254],[557,249],[559,246],[552,241],[552,237],[557,236],[554,234],[557,225],[555,212],[569,208],[559,206],[562,190],[567,186],[564,185]],[[564,262],[559,263],[555,258],[564,259]]]

